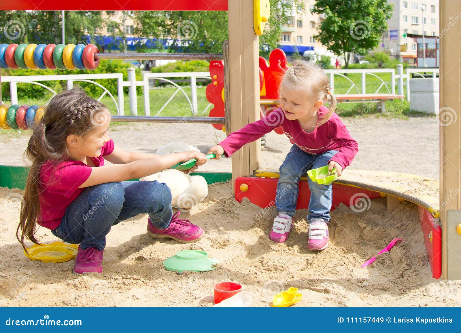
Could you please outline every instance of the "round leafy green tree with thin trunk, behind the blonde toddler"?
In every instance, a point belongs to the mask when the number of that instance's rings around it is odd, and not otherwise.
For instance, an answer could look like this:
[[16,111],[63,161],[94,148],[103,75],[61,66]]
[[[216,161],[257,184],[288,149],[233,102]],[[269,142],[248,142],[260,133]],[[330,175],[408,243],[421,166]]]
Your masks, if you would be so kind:
[[379,46],[393,5],[387,0],[318,0],[311,12],[323,14],[319,40],[336,55],[344,55],[349,67],[351,53],[365,55]]

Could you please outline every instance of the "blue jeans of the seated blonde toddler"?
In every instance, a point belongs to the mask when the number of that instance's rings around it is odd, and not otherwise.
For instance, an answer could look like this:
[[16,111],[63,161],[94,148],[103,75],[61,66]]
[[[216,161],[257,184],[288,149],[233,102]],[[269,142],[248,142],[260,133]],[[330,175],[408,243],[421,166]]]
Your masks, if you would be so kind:
[[[298,146],[293,145],[280,166],[280,177],[277,183],[277,195],[275,206],[278,214],[295,216],[296,202],[298,200],[298,182],[301,175],[307,170],[316,169],[328,165],[328,161],[337,153],[337,150],[330,150],[319,155],[311,155],[302,151]],[[332,204],[332,187],[321,185],[308,179],[311,190],[309,200],[309,214],[307,221],[313,218],[330,221],[330,209]]]

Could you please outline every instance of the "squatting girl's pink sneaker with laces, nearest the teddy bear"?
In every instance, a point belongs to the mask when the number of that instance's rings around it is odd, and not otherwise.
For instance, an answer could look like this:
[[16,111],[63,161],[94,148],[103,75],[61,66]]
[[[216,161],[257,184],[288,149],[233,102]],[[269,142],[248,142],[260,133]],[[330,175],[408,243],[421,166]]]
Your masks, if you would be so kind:
[[180,219],[178,217],[179,214],[179,211],[177,211],[171,217],[171,223],[166,229],[154,227],[152,222],[150,222],[150,218],[148,218],[148,234],[155,239],[171,238],[179,243],[192,243],[200,240],[204,234],[203,229],[190,223],[189,220]]

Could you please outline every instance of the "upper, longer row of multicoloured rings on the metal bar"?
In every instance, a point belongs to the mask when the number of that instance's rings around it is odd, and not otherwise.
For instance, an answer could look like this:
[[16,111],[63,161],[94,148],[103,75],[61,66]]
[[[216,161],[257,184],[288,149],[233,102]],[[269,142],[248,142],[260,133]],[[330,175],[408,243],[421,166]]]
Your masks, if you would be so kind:
[[93,44],[1,44],[0,68],[94,70],[99,65],[98,48]]

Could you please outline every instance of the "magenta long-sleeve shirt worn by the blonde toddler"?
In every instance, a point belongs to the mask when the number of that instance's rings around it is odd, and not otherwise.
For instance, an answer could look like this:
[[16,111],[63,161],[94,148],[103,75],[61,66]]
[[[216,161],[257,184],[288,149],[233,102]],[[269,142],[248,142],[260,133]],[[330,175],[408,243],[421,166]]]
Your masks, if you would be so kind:
[[[328,112],[328,108],[322,105],[318,111],[319,116],[326,112]],[[225,157],[229,157],[242,148],[242,146],[258,140],[261,136],[279,126],[282,126],[290,142],[304,152],[318,155],[329,150],[337,150],[337,154],[330,161],[335,161],[343,169],[352,163],[352,160],[359,151],[357,141],[350,136],[346,126],[336,113],[331,115],[328,122],[316,127],[311,133],[306,133],[297,120],[286,119],[284,111],[281,108],[229,134],[227,138],[219,142],[219,145],[224,148]]]

